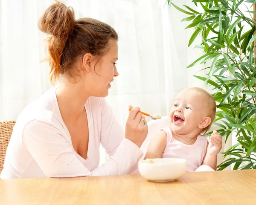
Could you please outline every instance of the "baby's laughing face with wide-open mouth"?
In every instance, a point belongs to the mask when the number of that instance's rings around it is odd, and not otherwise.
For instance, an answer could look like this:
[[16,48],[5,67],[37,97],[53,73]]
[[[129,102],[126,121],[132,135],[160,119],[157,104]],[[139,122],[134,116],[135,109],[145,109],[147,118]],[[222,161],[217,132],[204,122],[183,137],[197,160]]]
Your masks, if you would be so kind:
[[204,93],[197,90],[180,91],[169,113],[172,131],[177,135],[200,133],[199,125],[209,112],[206,98]]

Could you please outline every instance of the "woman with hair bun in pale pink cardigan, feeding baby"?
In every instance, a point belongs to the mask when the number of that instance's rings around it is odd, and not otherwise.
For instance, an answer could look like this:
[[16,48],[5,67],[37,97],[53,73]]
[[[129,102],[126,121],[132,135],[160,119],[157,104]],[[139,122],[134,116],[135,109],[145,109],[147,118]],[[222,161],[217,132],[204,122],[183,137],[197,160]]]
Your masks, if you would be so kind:
[[[75,20],[73,9],[59,2],[39,28],[51,35],[49,76],[58,86],[17,118],[0,178],[127,174],[143,155],[148,126],[133,108],[124,133],[104,99],[118,76],[118,35],[98,20]],[[98,167],[100,143],[110,159]]]

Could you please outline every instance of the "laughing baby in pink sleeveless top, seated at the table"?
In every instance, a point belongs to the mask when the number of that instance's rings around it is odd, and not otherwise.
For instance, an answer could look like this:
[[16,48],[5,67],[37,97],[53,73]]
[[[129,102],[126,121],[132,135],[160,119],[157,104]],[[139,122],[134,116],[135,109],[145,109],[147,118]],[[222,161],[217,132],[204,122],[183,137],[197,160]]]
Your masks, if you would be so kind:
[[151,139],[145,159],[182,158],[186,159],[189,172],[201,165],[216,170],[222,138],[217,132],[212,133],[209,142],[202,136],[211,127],[215,114],[215,100],[207,91],[198,87],[180,91],[169,113],[169,127]]

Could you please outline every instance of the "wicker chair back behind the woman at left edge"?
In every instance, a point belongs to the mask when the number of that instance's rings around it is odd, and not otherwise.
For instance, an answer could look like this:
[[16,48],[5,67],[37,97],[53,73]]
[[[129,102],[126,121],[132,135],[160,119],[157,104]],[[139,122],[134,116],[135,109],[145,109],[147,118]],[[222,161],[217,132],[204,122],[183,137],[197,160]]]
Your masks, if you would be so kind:
[[12,128],[16,121],[0,122],[0,173],[3,169],[3,162],[6,155],[6,149],[12,135]]

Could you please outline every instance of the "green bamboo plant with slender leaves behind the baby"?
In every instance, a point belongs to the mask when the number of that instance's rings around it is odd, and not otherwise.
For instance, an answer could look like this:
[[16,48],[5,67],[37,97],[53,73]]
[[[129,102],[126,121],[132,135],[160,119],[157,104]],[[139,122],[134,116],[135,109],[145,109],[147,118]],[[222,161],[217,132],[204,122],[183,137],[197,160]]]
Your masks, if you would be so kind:
[[[232,132],[238,141],[223,153],[224,162],[218,165],[218,170],[232,164],[234,170],[256,169],[256,58],[253,45],[256,40],[256,20],[253,18],[256,0],[192,2],[204,12],[186,5],[181,9],[174,4],[175,0],[167,0],[168,5],[188,15],[182,20],[190,22],[185,29],[195,30],[188,46],[201,36],[201,44],[195,48],[203,49],[204,55],[188,68],[211,62],[207,78],[195,77],[212,86],[218,107],[214,124],[221,127],[218,132],[225,137],[225,142]],[[249,3],[246,11],[241,10],[244,3]]]

